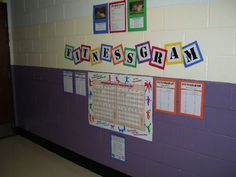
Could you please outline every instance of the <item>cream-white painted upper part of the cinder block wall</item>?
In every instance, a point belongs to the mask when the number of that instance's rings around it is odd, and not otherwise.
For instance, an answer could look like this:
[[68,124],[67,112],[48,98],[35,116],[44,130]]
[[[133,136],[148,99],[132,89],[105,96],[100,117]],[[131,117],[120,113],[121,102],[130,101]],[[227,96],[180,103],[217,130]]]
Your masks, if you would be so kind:
[[[147,0],[148,29],[94,35],[92,8],[109,0],[8,0],[12,11],[13,65],[124,72],[131,74],[236,83],[235,0]],[[64,59],[64,45],[101,43],[134,47],[149,40],[151,45],[197,40],[204,62],[185,69],[168,66],[164,71],[138,65],[129,68],[103,63],[75,66]]]

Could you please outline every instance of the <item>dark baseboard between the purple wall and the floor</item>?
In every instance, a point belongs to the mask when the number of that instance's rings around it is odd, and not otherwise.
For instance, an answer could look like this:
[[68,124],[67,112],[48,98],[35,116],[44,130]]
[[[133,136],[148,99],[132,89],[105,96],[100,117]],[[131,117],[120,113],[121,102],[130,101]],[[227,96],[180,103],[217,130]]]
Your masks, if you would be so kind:
[[75,152],[72,152],[62,146],[59,146],[55,143],[52,143],[40,136],[37,136],[29,131],[26,131],[22,128],[17,127],[16,128],[17,133],[31,141],[33,141],[34,143],[48,149],[49,151],[52,151],[62,157],[64,157],[67,160],[70,160],[90,171],[93,171],[94,173],[97,173],[98,175],[101,176],[107,176],[107,177],[128,177],[128,175],[119,172],[117,170],[114,170],[110,167],[107,167],[103,164],[100,164],[98,162],[95,162],[93,160],[90,160],[82,155],[79,155]]

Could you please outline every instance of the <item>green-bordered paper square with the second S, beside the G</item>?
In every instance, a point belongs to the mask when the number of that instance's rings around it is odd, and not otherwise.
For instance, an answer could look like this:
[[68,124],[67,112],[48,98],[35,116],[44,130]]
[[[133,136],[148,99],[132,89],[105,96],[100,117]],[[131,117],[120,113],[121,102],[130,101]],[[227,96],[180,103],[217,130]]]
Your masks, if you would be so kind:
[[136,49],[125,48],[125,60],[123,65],[130,67],[137,67],[137,52]]

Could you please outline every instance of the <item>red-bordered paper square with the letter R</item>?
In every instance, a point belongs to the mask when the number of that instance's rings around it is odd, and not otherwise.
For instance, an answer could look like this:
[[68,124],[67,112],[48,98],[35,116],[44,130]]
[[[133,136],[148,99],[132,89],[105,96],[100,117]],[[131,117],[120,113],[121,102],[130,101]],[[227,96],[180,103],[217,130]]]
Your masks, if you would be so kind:
[[166,49],[153,46],[152,47],[152,60],[149,61],[149,65],[164,70],[166,57],[167,57]]

